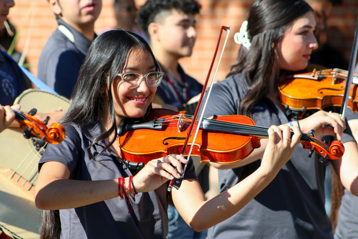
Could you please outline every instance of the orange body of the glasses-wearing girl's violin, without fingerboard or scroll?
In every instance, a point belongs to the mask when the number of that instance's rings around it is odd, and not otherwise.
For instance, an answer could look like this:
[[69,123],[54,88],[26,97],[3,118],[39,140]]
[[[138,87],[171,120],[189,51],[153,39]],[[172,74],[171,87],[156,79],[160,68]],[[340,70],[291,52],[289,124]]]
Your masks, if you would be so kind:
[[[180,154],[185,137],[187,137],[187,129],[192,121],[185,116],[180,119],[180,115],[184,114],[185,111],[178,113],[166,109],[152,109],[148,120],[172,118],[171,116],[174,118],[164,122],[163,128],[160,130],[136,129],[120,135],[118,144],[121,147],[122,159],[146,163],[168,154]],[[255,125],[252,119],[241,115],[216,116],[216,119]],[[178,129],[180,120],[183,120],[184,124],[181,129]],[[150,135],[149,138],[148,135]],[[192,138],[193,135],[189,142],[192,142]],[[150,139],[150,143],[141,143],[147,142],[148,139]],[[260,146],[259,137],[199,130],[191,155],[200,157],[200,162],[233,163],[247,157],[254,148]],[[188,155],[188,152],[189,147],[185,150],[184,155]]]

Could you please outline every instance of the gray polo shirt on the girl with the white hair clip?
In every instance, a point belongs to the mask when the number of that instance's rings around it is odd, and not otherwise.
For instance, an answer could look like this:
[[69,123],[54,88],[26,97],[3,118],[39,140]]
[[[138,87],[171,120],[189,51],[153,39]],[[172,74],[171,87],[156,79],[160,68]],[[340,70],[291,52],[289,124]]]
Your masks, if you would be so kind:
[[[205,117],[238,114],[248,89],[241,74],[215,84]],[[267,97],[253,107],[252,119],[258,126],[285,124],[289,118]],[[351,134],[344,134],[342,143],[351,140],[354,140]],[[333,238],[324,208],[326,166],[319,162],[319,154],[308,158],[308,153],[301,144],[297,145],[274,180],[238,213],[209,228],[208,238]],[[219,170],[220,191],[236,185],[260,164],[261,159],[243,167]]]

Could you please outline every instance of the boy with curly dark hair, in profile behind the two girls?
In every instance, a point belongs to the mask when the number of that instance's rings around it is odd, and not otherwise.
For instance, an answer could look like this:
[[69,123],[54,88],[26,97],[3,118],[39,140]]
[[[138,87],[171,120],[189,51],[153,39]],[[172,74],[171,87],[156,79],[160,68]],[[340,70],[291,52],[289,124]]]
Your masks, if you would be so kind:
[[[178,63],[192,55],[196,39],[195,15],[201,6],[195,0],[147,0],[138,11],[138,24],[146,34],[150,47],[165,74],[156,91],[157,103],[164,107],[183,109],[192,97],[200,94],[203,85],[188,76]],[[174,106],[174,107],[173,107]],[[192,107],[195,110],[195,107]],[[189,115],[194,112],[187,112]],[[203,191],[208,190],[208,167],[199,174]],[[205,238],[207,230],[195,232],[181,218],[173,205],[168,207],[167,238]]]

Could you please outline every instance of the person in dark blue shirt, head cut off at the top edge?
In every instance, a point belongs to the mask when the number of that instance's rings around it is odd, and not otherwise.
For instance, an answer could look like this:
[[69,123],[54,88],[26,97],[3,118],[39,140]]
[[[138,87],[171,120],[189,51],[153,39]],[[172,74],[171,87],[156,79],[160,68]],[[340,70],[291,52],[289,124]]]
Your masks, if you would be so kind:
[[68,99],[89,45],[97,36],[95,21],[101,0],[47,0],[56,15],[58,28],[42,49],[37,76],[59,95]]

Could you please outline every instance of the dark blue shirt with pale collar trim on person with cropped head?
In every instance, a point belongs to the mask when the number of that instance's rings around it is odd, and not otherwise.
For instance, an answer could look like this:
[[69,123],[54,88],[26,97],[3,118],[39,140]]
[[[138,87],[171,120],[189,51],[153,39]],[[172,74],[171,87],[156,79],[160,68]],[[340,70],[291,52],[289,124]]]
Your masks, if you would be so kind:
[[40,54],[37,77],[69,99],[91,41],[63,20],[57,23]]

